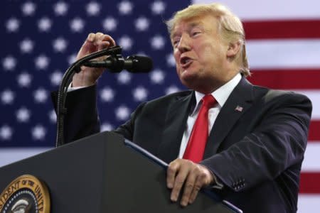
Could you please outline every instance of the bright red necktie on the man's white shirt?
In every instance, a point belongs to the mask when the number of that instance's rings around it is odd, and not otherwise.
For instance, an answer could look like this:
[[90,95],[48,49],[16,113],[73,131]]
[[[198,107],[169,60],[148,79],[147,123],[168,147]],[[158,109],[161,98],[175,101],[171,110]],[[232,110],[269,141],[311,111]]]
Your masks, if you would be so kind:
[[202,105],[196,122],[193,125],[186,151],[183,154],[183,159],[192,160],[194,163],[198,163],[203,159],[203,153],[208,139],[208,111],[213,107],[215,102],[215,98],[211,94],[206,94],[202,98]]

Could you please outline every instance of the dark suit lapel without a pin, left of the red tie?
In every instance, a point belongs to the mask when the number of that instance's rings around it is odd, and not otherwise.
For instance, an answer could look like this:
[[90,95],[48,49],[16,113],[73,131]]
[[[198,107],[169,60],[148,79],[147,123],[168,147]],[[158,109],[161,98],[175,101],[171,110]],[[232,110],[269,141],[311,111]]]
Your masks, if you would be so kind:
[[186,129],[186,121],[195,99],[194,92],[186,97],[177,97],[176,102],[169,106],[166,115],[165,128],[159,147],[159,158],[167,163],[178,157],[183,131]]

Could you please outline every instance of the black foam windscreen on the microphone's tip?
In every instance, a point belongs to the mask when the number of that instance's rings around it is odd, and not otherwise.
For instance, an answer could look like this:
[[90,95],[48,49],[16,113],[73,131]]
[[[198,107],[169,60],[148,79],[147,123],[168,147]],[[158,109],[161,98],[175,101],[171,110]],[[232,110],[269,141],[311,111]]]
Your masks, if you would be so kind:
[[150,72],[154,67],[152,59],[147,56],[131,55],[127,59],[132,60],[129,72]]

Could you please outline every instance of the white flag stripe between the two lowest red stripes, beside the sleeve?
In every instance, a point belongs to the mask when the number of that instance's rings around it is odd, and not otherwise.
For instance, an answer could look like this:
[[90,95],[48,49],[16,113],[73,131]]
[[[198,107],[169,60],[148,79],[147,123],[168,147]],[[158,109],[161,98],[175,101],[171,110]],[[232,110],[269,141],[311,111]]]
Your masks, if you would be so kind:
[[304,153],[304,162],[302,163],[303,172],[320,173],[319,163],[320,141],[309,142]]

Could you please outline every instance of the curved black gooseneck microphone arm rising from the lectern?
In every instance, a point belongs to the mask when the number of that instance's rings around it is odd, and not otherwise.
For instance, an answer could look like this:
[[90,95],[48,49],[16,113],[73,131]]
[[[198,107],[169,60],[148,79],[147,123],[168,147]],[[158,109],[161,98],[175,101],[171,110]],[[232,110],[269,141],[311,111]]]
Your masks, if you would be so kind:
[[[60,87],[58,90],[58,104],[57,104],[57,137],[55,141],[55,147],[61,146],[64,144],[64,119],[65,114],[67,113],[67,109],[65,108],[65,99],[68,92],[68,87],[73,80],[73,75],[75,72],[81,71],[81,66],[85,65],[85,62],[92,60],[94,58],[99,58],[104,55],[119,55],[122,52],[122,48],[120,46],[114,46],[112,48],[100,50],[98,52],[92,53],[90,55],[85,56],[84,58],[80,58],[76,62],[74,62],[65,74],[63,75],[63,79],[61,80]],[[121,71],[121,70],[120,70]]]

